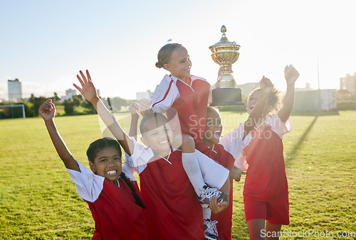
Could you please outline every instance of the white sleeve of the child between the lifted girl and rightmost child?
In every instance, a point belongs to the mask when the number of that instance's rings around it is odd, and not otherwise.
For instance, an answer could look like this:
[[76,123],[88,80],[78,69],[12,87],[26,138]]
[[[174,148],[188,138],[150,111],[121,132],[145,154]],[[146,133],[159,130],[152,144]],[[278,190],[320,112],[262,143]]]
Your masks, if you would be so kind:
[[[239,125],[237,129],[227,133],[220,138],[219,144],[221,144],[226,151],[228,151],[235,159],[238,154],[244,150],[244,148],[251,141],[251,131],[244,138],[245,134],[245,122]],[[244,140],[242,139],[244,138]]]

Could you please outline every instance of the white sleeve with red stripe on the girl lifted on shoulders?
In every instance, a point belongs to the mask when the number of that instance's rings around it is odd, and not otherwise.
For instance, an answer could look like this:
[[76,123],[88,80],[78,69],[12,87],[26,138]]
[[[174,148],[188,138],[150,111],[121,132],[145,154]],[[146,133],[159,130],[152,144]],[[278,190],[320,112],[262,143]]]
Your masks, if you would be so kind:
[[170,109],[178,98],[179,89],[177,85],[168,75],[165,75],[150,98],[152,110],[162,114]]

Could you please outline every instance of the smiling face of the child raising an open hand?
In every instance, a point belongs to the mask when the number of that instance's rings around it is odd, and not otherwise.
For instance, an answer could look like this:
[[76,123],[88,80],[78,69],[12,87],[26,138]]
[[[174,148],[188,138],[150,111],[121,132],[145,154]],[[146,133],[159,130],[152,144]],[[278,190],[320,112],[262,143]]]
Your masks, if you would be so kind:
[[172,147],[173,133],[168,123],[162,119],[152,118],[145,124],[145,133],[142,134],[142,142],[152,148],[159,156],[167,156]]

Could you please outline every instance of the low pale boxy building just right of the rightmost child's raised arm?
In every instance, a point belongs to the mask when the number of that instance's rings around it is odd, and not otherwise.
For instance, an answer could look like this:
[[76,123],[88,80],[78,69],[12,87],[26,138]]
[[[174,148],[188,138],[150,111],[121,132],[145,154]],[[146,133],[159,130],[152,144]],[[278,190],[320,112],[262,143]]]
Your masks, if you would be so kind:
[[336,108],[336,89],[295,92],[293,111],[330,111]]

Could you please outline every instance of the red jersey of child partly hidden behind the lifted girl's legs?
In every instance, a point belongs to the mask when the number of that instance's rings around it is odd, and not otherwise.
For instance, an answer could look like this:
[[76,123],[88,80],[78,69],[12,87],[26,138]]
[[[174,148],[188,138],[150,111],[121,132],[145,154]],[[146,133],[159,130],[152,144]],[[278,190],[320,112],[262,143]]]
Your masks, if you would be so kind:
[[[225,168],[231,170],[234,168],[235,158],[224,149],[220,144],[214,144],[213,150],[204,143],[199,143],[196,146],[197,150],[204,153],[206,156],[213,158]],[[217,220],[216,229],[221,240],[231,239],[232,227],[232,206],[233,205],[233,180],[230,181],[229,207],[219,214],[211,213],[211,221]]]

